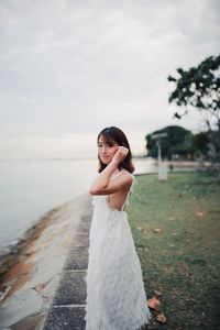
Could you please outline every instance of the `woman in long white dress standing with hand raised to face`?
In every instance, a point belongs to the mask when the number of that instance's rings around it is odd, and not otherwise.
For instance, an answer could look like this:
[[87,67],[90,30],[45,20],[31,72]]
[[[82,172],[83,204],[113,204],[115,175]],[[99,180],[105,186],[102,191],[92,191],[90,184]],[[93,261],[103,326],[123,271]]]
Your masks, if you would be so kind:
[[103,129],[97,139],[99,175],[92,183],[86,330],[136,330],[150,322],[142,270],[124,208],[134,166],[124,133]]

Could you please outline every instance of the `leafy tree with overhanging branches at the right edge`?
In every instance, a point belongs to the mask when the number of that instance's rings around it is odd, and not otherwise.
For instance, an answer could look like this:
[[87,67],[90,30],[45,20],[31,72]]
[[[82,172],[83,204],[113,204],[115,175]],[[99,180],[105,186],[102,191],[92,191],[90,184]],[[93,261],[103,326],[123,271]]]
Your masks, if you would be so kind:
[[175,102],[184,111],[176,112],[174,117],[182,119],[191,109],[197,109],[208,127],[209,144],[216,153],[212,160],[220,161],[220,55],[207,57],[197,67],[188,70],[176,70],[177,77],[167,78],[176,85],[168,102]]

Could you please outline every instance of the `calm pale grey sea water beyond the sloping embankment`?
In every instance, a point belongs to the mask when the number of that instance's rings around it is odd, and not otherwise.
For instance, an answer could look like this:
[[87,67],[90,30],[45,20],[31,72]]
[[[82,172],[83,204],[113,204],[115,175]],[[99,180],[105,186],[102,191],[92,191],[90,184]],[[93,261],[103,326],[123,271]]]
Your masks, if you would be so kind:
[[[133,162],[136,174],[155,170],[150,160]],[[0,255],[47,211],[87,193],[97,164],[97,160],[1,161]]]

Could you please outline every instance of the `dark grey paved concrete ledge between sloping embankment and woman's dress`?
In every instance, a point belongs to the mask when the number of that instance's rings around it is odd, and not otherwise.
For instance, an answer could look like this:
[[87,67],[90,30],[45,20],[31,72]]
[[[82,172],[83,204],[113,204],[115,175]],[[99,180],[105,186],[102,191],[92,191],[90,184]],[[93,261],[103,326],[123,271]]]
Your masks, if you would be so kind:
[[44,330],[84,330],[86,328],[86,272],[90,226],[91,215],[82,216],[66,257]]

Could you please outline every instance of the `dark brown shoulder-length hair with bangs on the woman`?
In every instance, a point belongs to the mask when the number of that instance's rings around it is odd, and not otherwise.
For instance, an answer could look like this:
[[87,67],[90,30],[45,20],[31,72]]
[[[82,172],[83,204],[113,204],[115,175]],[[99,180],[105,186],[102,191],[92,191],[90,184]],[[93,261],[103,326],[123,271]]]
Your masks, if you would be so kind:
[[[131,148],[130,148],[130,144],[129,141],[125,136],[125,134],[122,132],[122,130],[116,128],[116,127],[110,127],[110,128],[106,128],[103,129],[97,138],[97,144],[99,143],[99,138],[102,136],[106,140],[106,143],[112,143],[112,142],[117,142],[119,144],[119,146],[125,146],[128,147],[129,152],[128,155],[125,156],[125,158],[123,160],[123,162],[121,162],[118,166],[119,170],[121,170],[121,168],[125,168],[127,170],[129,170],[130,173],[133,173],[135,167],[132,163],[132,153],[131,153]],[[101,162],[101,158],[99,157],[99,168],[98,172],[102,172],[108,164],[105,164]]]

